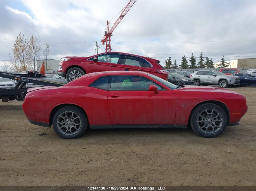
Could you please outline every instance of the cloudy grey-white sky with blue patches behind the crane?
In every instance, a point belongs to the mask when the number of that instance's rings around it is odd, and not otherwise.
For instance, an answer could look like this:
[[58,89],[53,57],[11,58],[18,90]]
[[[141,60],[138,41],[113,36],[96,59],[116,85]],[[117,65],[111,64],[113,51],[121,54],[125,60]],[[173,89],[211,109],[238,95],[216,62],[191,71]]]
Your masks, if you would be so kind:
[[[52,59],[91,56],[100,43],[106,21],[128,0],[0,0],[0,60],[9,60],[18,33],[33,33],[50,45]],[[119,16],[119,14],[118,14]],[[117,16],[117,17],[118,17]],[[112,24],[117,17],[113,18]],[[137,0],[111,37],[112,51],[180,63],[191,53],[214,62],[256,58],[256,1]],[[0,62],[1,62],[0,61]]]

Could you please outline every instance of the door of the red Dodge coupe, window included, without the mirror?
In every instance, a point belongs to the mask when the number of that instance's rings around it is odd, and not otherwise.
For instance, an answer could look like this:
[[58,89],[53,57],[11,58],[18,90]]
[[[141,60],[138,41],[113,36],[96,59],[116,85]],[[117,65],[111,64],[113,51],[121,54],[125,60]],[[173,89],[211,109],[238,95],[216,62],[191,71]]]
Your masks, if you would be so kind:
[[[158,94],[148,90],[158,87]],[[173,124],[176,98],[151,80],[133,75],[113,76],[108,92],[108,108],[113,125]]]

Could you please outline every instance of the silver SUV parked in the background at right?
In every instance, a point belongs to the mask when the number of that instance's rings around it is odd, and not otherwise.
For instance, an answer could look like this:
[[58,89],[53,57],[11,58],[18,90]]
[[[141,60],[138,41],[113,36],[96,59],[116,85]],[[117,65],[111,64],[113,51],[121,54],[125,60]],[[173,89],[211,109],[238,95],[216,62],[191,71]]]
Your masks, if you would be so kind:
[[194,80],[195,86],[219,85],[221,88],[227,88],[240,85],[240,78],[219,71],[200,70],[191,74],[190,78]]

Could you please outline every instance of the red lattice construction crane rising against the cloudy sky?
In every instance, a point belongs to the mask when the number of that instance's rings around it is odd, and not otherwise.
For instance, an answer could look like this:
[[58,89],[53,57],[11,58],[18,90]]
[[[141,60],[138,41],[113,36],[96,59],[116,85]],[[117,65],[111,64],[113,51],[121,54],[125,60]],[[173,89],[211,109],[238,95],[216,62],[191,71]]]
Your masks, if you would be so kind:
[[101,40],[102,45],[105,45],[106,43],[106,52],[111,52],[111,44],[110,44],[110,37],[112,36],[113,31],[117,27],[117,25],[122,21],[122,19],[125,17],[126,13],[131,9],[132,5],[136,2],[136,0],[130,0],[128,4],[125,6],[124,10],[118,17],[118,19],[115,21],[111,29],[109,30],[109,22],[107,21],[107,31],[105,31],[104,37]]

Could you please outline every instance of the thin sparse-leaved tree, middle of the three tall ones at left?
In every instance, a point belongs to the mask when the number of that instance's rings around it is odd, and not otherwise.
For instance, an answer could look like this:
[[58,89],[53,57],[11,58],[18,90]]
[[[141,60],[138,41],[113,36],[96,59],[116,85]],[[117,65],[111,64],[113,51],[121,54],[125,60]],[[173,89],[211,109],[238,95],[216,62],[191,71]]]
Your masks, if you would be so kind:
[[40,41],[38,39],[38,37],[33,37],[33,34],[30,38],[30,40],[28,41],[28,56],[30,59],[30,67],[36,71],[38,70],[37,65],[36,65],[36,61],[40,58],[39,52],[41,50],[41,45],[40,45]]

